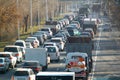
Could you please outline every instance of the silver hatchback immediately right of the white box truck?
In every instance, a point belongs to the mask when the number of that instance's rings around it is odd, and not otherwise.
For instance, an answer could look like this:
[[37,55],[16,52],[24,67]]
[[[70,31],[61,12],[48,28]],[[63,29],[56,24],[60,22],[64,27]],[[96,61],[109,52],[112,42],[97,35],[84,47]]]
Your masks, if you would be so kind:
[[47,49],[51,61],[60,60],[60,52],[57,46],[46,46],[45,48]]

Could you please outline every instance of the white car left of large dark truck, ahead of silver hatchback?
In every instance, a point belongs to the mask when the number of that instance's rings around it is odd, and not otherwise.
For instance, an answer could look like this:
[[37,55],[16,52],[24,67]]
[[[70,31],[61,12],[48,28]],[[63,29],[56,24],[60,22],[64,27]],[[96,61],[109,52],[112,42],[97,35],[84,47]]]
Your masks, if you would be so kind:
[[54,38],[51,38],[50,40],[51,42],[55,42],[59,48],[59,50],[63,51],[64,50],[64,47],[65,47],[65,43],[63,41],[62,38],[60,37],[54,37]]

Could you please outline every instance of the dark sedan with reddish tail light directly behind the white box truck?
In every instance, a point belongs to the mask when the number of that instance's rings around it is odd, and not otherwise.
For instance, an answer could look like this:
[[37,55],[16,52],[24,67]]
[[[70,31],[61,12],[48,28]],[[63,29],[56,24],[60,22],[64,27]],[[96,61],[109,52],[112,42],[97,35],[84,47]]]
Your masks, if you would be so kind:
[[34,73],[42,71],[42,66],[40,66],[39,61],[25,61],[22,67],[31,68],[34,71]]

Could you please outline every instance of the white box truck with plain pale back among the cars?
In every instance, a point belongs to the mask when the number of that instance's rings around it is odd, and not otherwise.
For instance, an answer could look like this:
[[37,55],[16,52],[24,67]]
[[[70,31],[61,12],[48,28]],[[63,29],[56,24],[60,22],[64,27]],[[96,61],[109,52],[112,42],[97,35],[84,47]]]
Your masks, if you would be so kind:
[[48,53],[45,48],[26,48],[25,60],[26,61],[39,61],[42,70],[48,67]]

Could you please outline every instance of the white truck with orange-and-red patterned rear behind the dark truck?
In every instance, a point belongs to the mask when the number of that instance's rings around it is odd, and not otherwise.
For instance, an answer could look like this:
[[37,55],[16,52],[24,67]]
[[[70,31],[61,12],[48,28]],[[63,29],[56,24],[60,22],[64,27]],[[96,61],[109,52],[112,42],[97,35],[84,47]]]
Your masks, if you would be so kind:
[[89,59],[87,53],[69,52],[65,64],[65,71],[75,72],[76,79],[88,80]]

